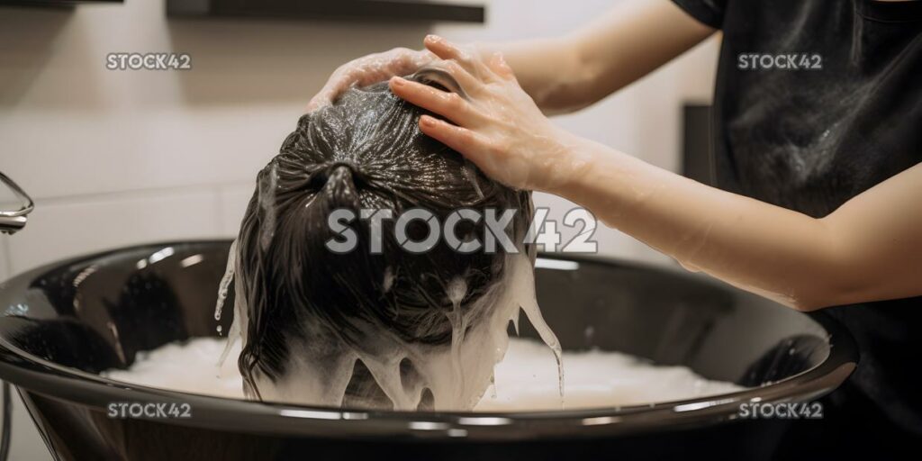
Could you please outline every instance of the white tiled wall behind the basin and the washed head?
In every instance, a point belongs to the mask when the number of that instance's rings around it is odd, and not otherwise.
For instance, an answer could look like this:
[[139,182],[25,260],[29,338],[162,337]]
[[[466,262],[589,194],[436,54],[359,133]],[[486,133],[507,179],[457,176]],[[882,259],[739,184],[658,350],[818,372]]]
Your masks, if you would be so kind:
[[[493,0],[486,25],[167,20],[162,0],[73,12],[0,8],[0,171],[36,199],[26,230],[0,237],[0,279],[72,254],[136,242],[231,236],[255,172],[307,100],[352,57],[570,30],[617,2]],[[716,43],[559,123],[675,170],[680,105],[710,100]],[[108,71],[107,53],[182,52],[192,71]],[[548,195],[560,219],[570,206]],[[603,254],[663,262],[620,232]],[[17,408],[12,459],[42,459]],[[47,455],[44,455],[47,457]]]

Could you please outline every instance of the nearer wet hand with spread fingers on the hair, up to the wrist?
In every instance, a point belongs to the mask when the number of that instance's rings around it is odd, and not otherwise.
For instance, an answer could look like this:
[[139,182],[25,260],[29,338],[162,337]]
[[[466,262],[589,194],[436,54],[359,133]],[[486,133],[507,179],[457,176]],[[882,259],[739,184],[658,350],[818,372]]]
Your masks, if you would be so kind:
[[492,178],[512,187],[554,192],[574,167],[576,136],[550,123],[515,79],[500,53],[459,47],[426,37],[426,48],[442,58],[431,63],[455,77],[467,99],[427,85],[391,78],[394,93],[449,122],[424,115],[420,129],[454,148]]

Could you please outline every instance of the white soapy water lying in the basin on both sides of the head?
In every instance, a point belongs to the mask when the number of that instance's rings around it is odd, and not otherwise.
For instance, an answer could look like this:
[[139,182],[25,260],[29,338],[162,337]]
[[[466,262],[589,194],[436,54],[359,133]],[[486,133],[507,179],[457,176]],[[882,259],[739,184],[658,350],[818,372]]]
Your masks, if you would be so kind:
[[[215,366],[215,357],[226,343],[223,338],[201,337],[185,344],[168,344],[138,354],[129,370],[112,370],[103,375],[125,383],[192,394],[244,398],[236,361]],[[231,356],[239,354],[238,343]],[[705,380],[686,367],[656,366],[619,352],[565,352],[563,363],[568,409],[644,405],[742,389],[736,384]],[[479,398],[474,410],[559,409],[561,396],[554,379],[558,374],[553,354],[546,346],[513,338],[505,358],[495,367],[495,384]]]

